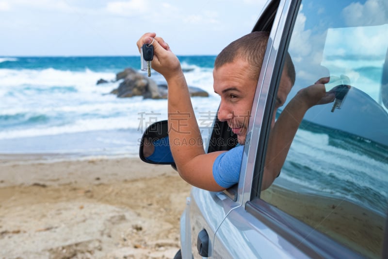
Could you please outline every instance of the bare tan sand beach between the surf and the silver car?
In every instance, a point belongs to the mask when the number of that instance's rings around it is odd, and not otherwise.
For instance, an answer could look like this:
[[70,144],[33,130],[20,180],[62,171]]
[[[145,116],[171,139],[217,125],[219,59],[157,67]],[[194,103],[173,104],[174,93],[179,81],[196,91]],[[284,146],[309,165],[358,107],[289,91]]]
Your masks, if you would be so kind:
[[173,258],[189,192],[138,158],[0,155],[0,258]]

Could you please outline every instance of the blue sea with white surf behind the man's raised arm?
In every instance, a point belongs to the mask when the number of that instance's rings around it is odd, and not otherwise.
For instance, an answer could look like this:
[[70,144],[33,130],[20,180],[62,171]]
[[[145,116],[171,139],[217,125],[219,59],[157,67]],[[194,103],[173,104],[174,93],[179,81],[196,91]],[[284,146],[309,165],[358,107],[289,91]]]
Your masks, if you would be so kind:
[[[215,56],[179,56],[201,128],[211,126],[220,98],[213,91]],[[167,119],[167,101],[117,98],[116,73],[140,70],[139,56],[0,57],[0,154],[64,158],[138,156],[146,127]],[[99,79],[108,81],[98,84]],[[151,79],[165,83],[152,70]],[[210,129],[209,129],[210,130]]]

